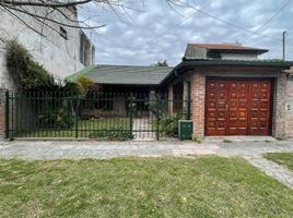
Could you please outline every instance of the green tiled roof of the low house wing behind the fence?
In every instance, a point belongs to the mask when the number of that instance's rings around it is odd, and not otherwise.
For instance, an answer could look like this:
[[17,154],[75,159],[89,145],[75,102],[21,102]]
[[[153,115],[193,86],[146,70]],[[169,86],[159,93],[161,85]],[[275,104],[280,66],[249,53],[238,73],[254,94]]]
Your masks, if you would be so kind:
[[99,84],[159,85],[173,70],[169,66],[106,65],[89,66],[67,77],[75,81],[85,76]]

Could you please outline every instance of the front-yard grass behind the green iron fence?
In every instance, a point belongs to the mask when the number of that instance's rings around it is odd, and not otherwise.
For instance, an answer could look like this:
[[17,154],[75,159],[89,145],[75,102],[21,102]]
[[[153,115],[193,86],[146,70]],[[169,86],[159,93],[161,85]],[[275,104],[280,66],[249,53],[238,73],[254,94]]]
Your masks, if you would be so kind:
[[[78,136],[89,137],[96,130],[112,130],[122,128],[130,130],[128,118],[103,118],[98,120],[79,120]],[[75,137],[75,126],[70,130],[32,130],[22,133],[22,137]]]

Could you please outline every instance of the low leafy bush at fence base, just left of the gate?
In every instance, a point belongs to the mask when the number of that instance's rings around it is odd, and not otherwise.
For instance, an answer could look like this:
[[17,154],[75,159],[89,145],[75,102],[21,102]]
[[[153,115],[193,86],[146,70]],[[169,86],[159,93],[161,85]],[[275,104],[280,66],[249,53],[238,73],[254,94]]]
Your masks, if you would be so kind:
[[89,134],[89,137],[109,141],[127,141],[132,140],[133,135],[130,133],[130,131],[124,130],[121,126],[118,126],[112,130],[95,131]]

